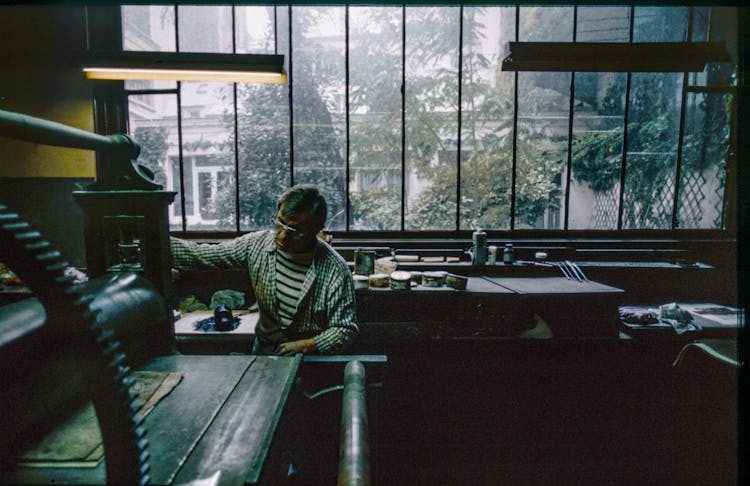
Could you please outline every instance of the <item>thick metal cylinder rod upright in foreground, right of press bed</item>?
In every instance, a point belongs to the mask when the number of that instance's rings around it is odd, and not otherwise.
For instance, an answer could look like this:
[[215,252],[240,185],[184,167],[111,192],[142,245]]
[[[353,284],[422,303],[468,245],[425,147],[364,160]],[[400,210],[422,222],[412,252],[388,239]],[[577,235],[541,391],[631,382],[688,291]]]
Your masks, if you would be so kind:
[[370,444],[367,428],[365,366],[360,361],[350,361],[344,369],[338,486],[369,486]]

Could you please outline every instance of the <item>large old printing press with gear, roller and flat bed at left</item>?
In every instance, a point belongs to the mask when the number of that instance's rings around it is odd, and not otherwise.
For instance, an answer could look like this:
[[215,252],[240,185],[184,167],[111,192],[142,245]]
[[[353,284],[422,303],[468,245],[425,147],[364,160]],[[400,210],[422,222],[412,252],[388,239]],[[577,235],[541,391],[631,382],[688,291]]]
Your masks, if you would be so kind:
[[[298,402],[318,385],[305,381],[301,355],[176,350],[166,219],[175,193],[138,165],[138,145],[6,111],[0,136],[96,150],[108,161],[75,193],[88,275],[0,201],[0,261],[33,293],[0,306],[1,482],[294,480],[307,460],[308,436],[296,424],[309,406]],[[340,414],[327,417],[340,422],[339,450],[323,459],[339,484],[370,481],[367,360],[384,357],[318,360],[338,376],[330,390],[342,391]]]

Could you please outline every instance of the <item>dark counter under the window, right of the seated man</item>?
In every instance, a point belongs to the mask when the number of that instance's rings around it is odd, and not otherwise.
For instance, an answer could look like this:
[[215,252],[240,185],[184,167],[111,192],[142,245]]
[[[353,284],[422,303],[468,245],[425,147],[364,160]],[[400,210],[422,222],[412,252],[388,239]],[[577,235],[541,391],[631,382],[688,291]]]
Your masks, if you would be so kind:
[[609,285],[557,276],[469,277],[466,290],[417,285],[356,292],[361,339],[368,340],[373,327],[393,339],[477,333],[512,337],[533,327],[534,314],[549,323],[556,337],[617,337],[617,307],[624,295]]

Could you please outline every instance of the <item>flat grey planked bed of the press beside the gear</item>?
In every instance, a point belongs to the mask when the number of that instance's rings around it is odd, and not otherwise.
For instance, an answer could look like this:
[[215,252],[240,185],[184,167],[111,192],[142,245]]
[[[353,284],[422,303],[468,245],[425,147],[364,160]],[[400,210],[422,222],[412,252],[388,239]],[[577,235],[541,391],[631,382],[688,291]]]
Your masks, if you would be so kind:
[[[145,371],[182,381],[146,416],[150,484],[257,484],[301,362],[296,357],[184,356],[154,359]],[[95,467],[18,467],[19,484],[105,484]]]

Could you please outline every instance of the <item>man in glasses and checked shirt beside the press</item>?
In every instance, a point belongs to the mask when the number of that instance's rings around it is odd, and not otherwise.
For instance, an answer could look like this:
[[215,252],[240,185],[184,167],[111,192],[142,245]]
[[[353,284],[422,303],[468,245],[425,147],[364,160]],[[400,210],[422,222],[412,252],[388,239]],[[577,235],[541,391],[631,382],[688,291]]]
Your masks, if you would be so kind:
[[351,272],[317,237],[326,212],[316,187],[294,186],[278,201],[275,229],[216,245],[172,238],[173,266],[247,269],[260,312],[253,353],[338,353],[359,329]]

